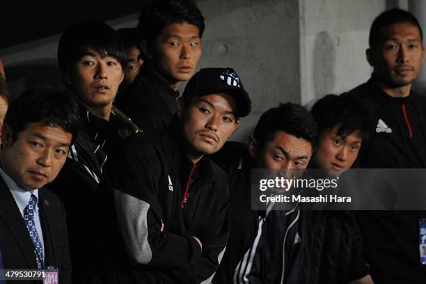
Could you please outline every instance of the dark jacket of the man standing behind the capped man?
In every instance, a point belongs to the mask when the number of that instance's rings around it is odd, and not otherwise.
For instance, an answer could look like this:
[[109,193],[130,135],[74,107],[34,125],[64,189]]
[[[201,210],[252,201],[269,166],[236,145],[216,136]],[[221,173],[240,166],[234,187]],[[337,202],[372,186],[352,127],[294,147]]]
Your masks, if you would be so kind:
[[120,91],[114,104],[146,131],[171,124],[178,96],[177,91],[144,63],[141,72],[132,84]]

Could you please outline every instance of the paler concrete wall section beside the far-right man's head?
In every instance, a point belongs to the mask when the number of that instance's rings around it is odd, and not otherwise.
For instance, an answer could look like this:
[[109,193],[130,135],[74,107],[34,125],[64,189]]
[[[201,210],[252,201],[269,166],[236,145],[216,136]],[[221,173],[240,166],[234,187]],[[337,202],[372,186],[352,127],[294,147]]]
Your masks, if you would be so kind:
[[386,1],[303,0],[301,20],[301,102],[313,104],[367,81],[368,33]]

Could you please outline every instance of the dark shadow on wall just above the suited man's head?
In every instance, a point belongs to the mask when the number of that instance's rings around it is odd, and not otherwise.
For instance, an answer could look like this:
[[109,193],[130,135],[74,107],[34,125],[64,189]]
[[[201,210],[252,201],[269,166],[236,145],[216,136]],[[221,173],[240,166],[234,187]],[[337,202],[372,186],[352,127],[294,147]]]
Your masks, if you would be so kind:
[[6,66],[6,82],[10,96],[15,98],[24,90],[38,84],[63,86],[61,72],[56,60],[52,58],[38,59],[19,65]]

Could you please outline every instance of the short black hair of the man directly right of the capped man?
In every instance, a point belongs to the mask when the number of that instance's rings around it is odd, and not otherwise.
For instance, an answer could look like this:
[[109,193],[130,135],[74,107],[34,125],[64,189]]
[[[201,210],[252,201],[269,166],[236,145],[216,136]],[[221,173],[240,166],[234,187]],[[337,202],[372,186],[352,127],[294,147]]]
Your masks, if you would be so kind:
[[287,102],[267,110],[260,116],[253,137],[259,148],[274,140],[276,134],[283,131],[297,138],[308,141],[315,147],[317,141],[317,125],[310,112],[300,104]]

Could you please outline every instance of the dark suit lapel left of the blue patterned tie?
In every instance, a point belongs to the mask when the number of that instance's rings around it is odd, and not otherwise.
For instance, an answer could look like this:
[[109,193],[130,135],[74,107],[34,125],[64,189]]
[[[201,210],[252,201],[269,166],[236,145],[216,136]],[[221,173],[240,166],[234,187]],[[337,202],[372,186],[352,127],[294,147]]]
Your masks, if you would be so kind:
[[[36,255],[34,254],[34,245],[29,237],[19,208],[13,199],[10,190],[0,177],[0,219],[6,224],[11,235],[15,237],[17,245],[22,251],[29,269],[37,269]],[[22,267],[24,268],[24,267]]]

